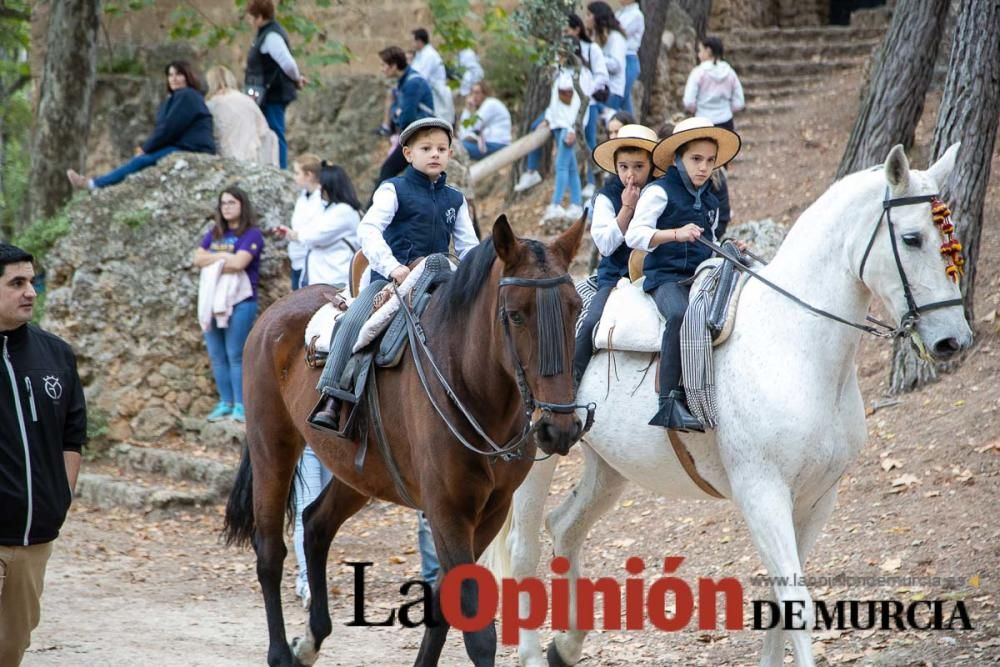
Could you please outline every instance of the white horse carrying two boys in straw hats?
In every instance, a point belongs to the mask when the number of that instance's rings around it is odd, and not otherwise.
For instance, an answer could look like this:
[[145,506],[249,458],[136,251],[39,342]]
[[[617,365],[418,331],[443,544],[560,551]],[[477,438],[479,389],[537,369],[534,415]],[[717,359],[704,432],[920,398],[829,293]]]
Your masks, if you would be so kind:
[[[927,349],[943,359],[968,347],[972,330],[962,308],[941,305],[959,299],[960,292],[945,274],[930,204],[900,202],[889,211],[895,251],[882,218],[887,197],[939,192],[957,151],[952,146],[921,172],[910,170],[896,146],[884,168],[838,181],[802,214],[761,274],[852,322],[864,322],[873,294],[897,323],[914,302],[939,304],[918,311],[915,331]],[[912,298],[904,292],[897,253]],[[775,586],[774,596],[779,604],[804,602],[806,628],[813,627],[812,599],[800,585],[806,557],[833,511],[837,482],[867,436],[855,366],[861,335],[749,279],[732,336],[715,349],[718,428],[670,436],[690,452],[697,475],[739,507],[769,575],[795,582]],[[675,453],[668,432],[647,425],[657,409],[654,372],[646,372],[649,355],[616,352],[617,372],[609,373],[607,354],[602,350],[592,360],[579,389],[578,399],[598,406],[597,421],[581,445],[582,479],[546,520],[555,555],[571,562],[571,581],[580,575],[588,531],[615,505],[626,481],[666,497],[711,497],[684,471],[685,457]],[[536,463],[516,492],[511,517],[484,557],[494,571],[506,563],[512,569],[506,576],[535,575],[542,509],[556,464],[554,458]],[[520,602],[526,617],[525,594]],[[576,609],[575,600],[570,609]],[[573,665],[585,636],[579,630],[558,633],[545,656],[538,633],[522,631],[521,664]],[[798,665],[814,664],[808,630],[785,631],[779,624],[766,634],[761,665],[782,665],[786,638]]]

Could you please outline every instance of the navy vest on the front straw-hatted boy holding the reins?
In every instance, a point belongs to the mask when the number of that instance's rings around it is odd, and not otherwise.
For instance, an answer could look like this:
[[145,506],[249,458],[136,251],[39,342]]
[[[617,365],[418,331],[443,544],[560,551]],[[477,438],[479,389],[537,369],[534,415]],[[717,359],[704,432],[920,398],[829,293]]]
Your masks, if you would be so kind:
[[[656,228],[679,229],[695,223],[705,232],[705,238],[715,239],[715,225],[719,219],[719,199],[712,186],[701,195],[701,210],[694,208],[694,195],[687,191],[677,167],[652,182],[667,193],[667,206],[656,220]],[[712,251],[700,243],[663,243],[646,255],[643,272],[646,274],[644,289],[649,292],[665,282],[690,278],[698,265],[708,259]]]

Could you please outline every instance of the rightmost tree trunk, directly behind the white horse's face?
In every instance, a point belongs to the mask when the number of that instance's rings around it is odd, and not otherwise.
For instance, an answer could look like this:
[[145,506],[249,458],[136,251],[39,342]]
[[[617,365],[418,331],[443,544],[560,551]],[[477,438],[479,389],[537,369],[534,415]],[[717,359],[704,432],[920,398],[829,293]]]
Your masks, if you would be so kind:
[[[962,296],[965,314],[974,321],[976,263],[983,229],[983,201],[990,180],[990,163],[1000,107],[1000,0],[967,0],[955,27],[948,77],[941,97],[931,161],[956,141],[962,142],[955,169],[941,196],[949,203],[956,235],[965,255]],[[922,361],[909,345],[897,343],[890,388],[916,389],[936,376],[934,364]],[[943,369],[940,369],[943,370]]]

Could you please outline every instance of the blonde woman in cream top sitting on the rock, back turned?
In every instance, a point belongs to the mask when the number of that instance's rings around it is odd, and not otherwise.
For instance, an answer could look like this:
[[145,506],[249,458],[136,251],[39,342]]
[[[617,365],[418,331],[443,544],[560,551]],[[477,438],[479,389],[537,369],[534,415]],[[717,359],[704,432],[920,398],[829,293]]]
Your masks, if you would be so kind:
[[278,166],[278,137],[257,103],[243,94],[236,75],[216,65],[205,73],[215,147],[222,157]]

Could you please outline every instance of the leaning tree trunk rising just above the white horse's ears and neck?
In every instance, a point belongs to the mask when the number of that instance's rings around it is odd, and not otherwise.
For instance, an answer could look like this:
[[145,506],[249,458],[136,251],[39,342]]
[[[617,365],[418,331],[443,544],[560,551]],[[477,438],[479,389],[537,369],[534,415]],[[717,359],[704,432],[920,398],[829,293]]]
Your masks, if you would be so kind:
[[896,144],[909,149],[934,74],[949,0],[899,0],[885,41],[872,61],[854,129],[837,178],[885,159]]

